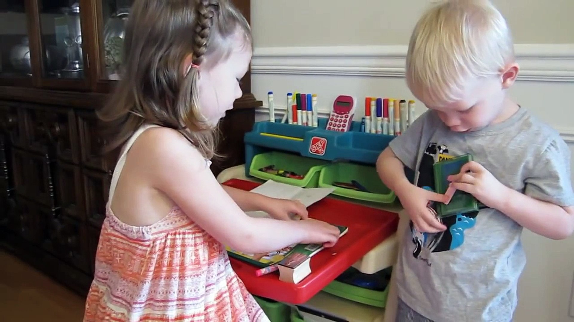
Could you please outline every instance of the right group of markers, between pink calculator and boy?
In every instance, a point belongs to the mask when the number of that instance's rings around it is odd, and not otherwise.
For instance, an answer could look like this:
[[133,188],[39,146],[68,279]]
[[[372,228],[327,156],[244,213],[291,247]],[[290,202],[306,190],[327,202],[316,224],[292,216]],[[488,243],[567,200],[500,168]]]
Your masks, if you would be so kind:
[[414,101],[365,97],[363,132],[401,135],[414,122]]

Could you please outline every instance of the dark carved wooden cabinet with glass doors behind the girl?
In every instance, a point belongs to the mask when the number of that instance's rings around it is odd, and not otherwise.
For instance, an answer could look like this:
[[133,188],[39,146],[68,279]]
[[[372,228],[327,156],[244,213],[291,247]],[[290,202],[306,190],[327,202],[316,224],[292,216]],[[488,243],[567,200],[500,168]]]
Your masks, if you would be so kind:
[[[95,111],[118,79],[117,41],[132,0],[0,1],[0,246],[86,294],[114,158]],[[249,19],[249,0],[234,3]],[[222,121],[223,168],[243,163],[262,105],[243,97]]]

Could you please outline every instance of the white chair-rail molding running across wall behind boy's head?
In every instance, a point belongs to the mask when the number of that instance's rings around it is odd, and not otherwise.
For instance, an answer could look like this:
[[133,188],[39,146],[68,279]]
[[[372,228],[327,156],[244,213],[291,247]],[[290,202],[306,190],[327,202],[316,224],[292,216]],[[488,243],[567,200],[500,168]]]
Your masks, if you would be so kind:
[[[254,74],[404,77],[406,45],[255,48]],[[518,44],[518,79],[574,81],[574,44]]]

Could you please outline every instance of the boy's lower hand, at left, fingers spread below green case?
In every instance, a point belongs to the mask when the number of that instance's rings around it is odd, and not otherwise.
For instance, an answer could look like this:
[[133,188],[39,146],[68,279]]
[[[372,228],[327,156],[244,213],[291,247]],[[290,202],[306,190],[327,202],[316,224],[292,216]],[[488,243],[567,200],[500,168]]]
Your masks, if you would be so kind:
[[447,226],[443,225],[427,207],[431,201],[445,202],[447,199],[445,195],[422,189],[410,182],[401,186],[395,193],[418,231],[438,233],[447,229]]

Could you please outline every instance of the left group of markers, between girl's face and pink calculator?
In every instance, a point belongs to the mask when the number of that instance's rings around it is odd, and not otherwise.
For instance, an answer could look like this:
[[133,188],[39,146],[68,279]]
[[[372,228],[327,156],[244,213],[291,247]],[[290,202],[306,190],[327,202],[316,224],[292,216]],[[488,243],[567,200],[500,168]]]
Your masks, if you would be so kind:
[[[267,93],[267,103],[269,104],[269,120],[274,122],[273,92]],[[317,94],[287,93],[287,112],[283,115],[281,123],[317,127],[319,126],[318,116]]]

